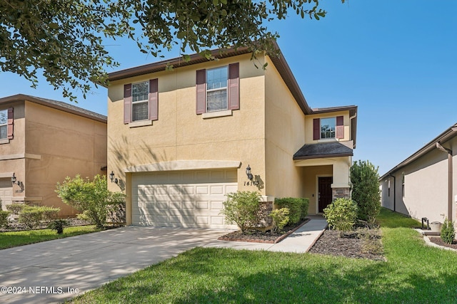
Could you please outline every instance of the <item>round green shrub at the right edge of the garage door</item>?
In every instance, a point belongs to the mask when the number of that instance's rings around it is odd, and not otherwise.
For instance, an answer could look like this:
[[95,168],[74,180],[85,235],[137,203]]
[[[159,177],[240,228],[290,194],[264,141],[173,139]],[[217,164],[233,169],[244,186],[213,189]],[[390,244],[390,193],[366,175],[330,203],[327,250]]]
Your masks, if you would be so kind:
[[224,214],[226,222],[235,223],[241,232],[255,226],[259,221],[260,214],[260,194],[251,191],[238,191],[227,194],[227,200],[224,201]]

